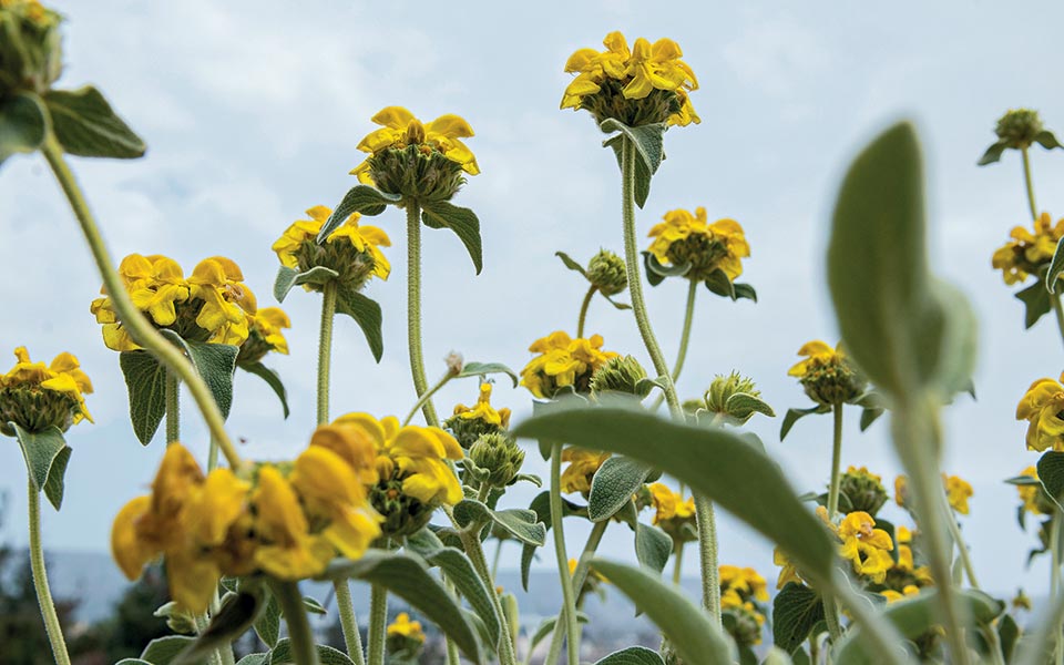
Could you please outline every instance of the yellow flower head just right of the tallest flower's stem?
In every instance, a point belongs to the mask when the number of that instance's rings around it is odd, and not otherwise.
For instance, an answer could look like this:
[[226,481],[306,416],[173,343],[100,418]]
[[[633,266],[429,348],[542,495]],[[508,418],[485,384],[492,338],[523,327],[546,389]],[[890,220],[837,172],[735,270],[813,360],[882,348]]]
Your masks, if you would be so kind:
[[738,222],[717,219],[709,224],[702,206],[694,215],[682,208],[669,211],[664,219],[647,234],[654,238],[649,253],[662,265],[689,264],[684,276],[697,282],[717,270],[723,270],[728,282],[743,274],[741,259],[750,255],[750,245]]

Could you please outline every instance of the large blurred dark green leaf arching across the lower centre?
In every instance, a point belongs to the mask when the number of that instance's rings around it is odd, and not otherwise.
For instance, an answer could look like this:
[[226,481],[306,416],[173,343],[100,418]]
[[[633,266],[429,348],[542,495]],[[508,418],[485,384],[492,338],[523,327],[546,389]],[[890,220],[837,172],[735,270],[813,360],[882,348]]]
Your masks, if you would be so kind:
[[831,576],[835,548],[820,521],[801,504],[776,463],[736,434],[623,408],[555,411],[526,420],[514,433],[654,464],[779,544],[805,574],[823,583]]

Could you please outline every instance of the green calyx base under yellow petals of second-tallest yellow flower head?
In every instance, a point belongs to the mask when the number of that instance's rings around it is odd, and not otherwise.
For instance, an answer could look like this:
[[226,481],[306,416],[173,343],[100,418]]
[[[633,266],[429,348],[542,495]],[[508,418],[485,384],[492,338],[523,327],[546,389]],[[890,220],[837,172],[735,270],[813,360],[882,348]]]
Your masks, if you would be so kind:
[[450,201],[466,184],[462,165],[426,144],[382,150],[367,161],[377,188],[403,198]]

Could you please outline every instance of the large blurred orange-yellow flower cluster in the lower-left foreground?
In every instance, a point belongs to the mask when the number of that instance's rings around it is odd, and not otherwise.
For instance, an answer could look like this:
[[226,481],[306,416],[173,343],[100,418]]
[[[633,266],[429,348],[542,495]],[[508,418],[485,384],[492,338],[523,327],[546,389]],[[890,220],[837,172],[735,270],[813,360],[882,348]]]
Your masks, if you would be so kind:
[[223,575],[320,574],[337,553],[357,559],[380,535],[366,494],[375,454],[354,428],[326,426],[291,464],[264,463],[246,478],[229,469],[204,475],[174,443],[152,493],[115,518],[112,553],[130,580],[164,555],[171,595],[191,612],[207,607]]

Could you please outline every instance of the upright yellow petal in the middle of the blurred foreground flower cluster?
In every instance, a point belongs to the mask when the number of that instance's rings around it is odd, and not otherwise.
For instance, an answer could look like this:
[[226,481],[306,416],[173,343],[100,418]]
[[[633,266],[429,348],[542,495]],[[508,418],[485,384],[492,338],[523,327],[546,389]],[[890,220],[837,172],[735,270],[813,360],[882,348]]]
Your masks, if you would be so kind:
[[263,542],[255,551],[258,567],[280,580],[301,580],[325,570],[335,550],[325,535],[310,533],[299,498],[277,469],[259,469],[252,503]]

